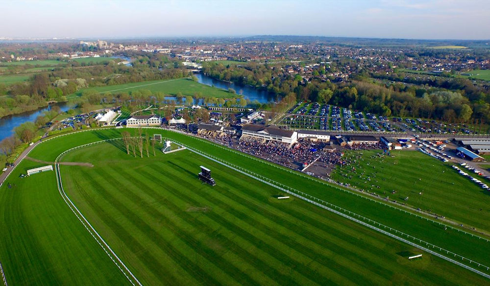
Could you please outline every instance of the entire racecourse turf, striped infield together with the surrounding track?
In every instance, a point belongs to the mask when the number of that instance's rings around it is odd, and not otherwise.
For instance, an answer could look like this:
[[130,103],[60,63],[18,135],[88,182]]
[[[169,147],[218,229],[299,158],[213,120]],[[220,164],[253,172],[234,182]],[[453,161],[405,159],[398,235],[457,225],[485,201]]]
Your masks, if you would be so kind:
[[[106,129],[55,138],[41,143],[29,156],[52,162],[66,149],[120,137],[119,132]],[[444,231],[435,222],[212,143],[165,130],[145,132],[170,136],[490,264],[489,243],[485,239],[451,228]],[[273,195],[280,191],[187,150],[134,158],[125,154],[120,143],[100,143],[72,151],[63,161],[94,164],[61,166],[65,190],[143,285],[489,282],[427,253],[422,260],[409,262],[407,254],[421,251],[300,199],[278,202]],[[196,181],[199,165],[213,170],[216,187]],[[0,188],[1,212],[7,214],[0,219],[0,228],[9,230],[0,235],[0,262],[9,284],[127,282],[55,191],[54,172],[19,179],[19,173],[28,167],[39,164],[23,161],[8,179],[15,186],[8,189],[4,184]],[[9,227],[21,221],[22,227]],[[118,274],[123,279],[118,280]]]

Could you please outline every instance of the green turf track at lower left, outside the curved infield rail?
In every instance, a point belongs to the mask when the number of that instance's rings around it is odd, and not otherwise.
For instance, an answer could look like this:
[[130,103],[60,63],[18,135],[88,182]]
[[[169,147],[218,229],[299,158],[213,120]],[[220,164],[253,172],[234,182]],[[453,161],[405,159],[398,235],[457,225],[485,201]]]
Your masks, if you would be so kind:
[[[0,262],[8,285],[128,285],[61,199],[54,172],[19,179],[24,161],[0,188]],[[3,283],[2,283],[3,284]]]

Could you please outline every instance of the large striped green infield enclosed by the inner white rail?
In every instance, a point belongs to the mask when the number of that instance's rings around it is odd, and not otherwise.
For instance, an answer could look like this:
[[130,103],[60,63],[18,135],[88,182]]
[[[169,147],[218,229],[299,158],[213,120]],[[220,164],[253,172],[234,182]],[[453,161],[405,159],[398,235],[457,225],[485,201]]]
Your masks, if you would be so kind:
[[[427,254],[409,262],[420,251],[187,150],[135,158],[118,141],[63,161],[94,164],[62,166],[65,190],[144,285],[484,282]],[[197,180],[200,165],[217,186]]]

